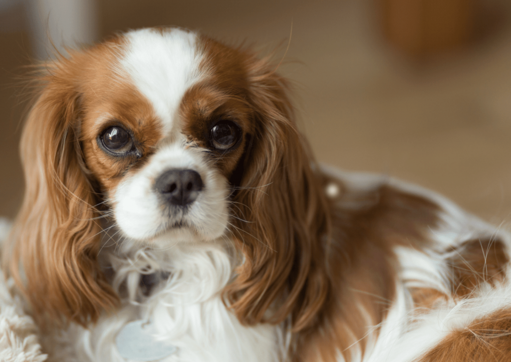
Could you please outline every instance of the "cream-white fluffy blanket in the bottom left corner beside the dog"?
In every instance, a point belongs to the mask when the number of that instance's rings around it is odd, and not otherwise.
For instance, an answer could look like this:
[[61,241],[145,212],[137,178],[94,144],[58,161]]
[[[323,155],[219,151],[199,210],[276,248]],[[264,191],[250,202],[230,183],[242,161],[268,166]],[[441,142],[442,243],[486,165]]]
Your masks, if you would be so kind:
[[[10,223],[0,218],[0,244],[4,242]],[[6,281],[0,270],[0,362],[42,362],[37,327],[11,294],[12,280]]]

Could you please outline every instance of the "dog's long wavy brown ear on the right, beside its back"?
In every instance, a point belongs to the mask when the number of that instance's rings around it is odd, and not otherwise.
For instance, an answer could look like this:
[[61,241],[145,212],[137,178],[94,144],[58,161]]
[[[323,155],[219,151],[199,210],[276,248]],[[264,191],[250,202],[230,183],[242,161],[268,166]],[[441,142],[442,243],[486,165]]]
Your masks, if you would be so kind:
[[291,316],[298,331],[314,322],[330,290],[323,266],[328,206],[319,170],[293,122],[286,80],[265,60],[250,64],[257,119],[233,204],[245,260],[226,295],[243,323]]

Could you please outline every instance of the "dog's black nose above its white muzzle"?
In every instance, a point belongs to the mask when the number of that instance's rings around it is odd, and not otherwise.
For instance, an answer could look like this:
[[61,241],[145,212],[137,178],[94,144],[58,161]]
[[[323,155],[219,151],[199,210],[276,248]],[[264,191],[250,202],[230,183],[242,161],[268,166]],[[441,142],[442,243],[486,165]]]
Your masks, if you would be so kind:
[[161,174],[156,179],[154,187],[170,204],[185,206],[199,196],[202,179],[196,171],[175,168]]

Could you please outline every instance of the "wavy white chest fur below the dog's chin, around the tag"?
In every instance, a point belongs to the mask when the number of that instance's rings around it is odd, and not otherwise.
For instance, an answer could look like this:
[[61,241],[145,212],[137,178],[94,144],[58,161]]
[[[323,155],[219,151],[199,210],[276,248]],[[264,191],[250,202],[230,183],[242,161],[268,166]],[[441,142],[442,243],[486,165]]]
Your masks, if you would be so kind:
[[[208,243],[157,251],[139,249],[123,253],[123,257],[107,255],[115,273],[112,285],[126,296],[123,307],[101,317],[88,330],[72,326],[57,341],[52,337],[48,342],[58,350],[51,360],[125,361],[115,337],[128,322],[140,319],[154,324],[156,339],[177,348],[160,361],[280,360],[280,328],[242,326],[222,302],[220,292],[233,270],[231,256],[223,247]],[[153,273],[168,278],[160,278],[145,297],[140,278]]]

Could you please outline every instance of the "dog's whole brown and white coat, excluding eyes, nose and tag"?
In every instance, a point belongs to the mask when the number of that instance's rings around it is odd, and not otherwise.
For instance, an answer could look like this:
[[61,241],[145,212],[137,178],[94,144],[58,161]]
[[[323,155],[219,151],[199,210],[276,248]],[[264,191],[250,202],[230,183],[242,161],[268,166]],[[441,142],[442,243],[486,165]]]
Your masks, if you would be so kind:
[[[144,29],[40,81],[4,267],[49,360],[123,360],[115,335],[136,319],[177,347],[165,361],[511,360],[509,234],[320,166],[268,59]],[[160,195],[173,170],[200,176],[185,206]]]

